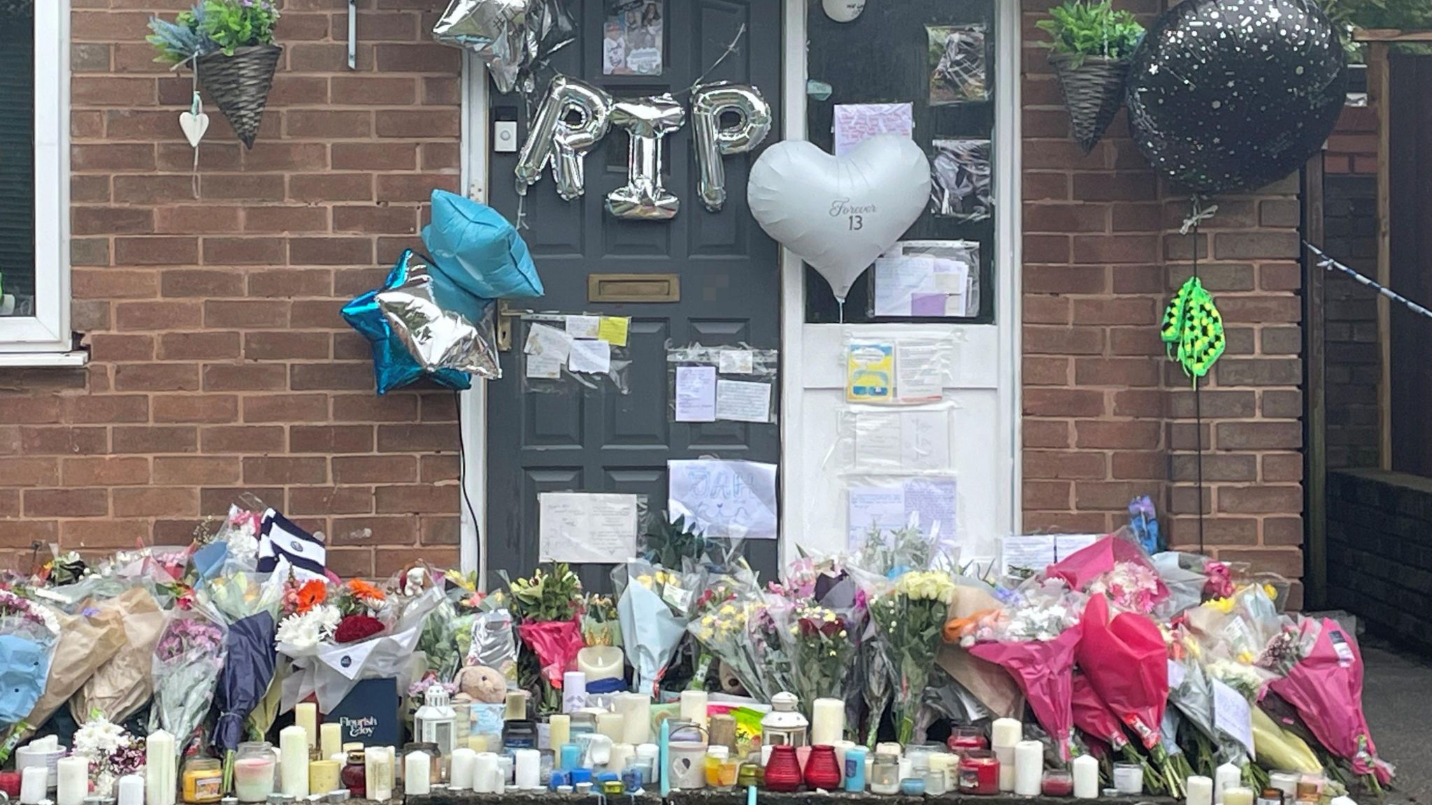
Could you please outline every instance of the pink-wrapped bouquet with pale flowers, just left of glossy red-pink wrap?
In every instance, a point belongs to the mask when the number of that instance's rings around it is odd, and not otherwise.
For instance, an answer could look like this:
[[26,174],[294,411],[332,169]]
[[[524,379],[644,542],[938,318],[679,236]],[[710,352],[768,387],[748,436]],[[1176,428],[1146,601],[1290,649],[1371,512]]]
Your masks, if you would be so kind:
[[1060,580],[1031,582],[961,639],[971,655],[998,663],[1020,683],[1063,761],[1074,729],[1074,649],[1085,600]]

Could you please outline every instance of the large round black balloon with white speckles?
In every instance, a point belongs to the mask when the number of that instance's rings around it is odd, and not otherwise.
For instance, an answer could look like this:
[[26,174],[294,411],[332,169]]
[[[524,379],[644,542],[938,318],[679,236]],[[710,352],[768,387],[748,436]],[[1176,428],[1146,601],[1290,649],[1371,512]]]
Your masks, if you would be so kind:
[[1184,0],[1134,53],[1128,125],[1148,162],[1203,192],[1282,179],[1342,112],[1348,60],[1309,0]]

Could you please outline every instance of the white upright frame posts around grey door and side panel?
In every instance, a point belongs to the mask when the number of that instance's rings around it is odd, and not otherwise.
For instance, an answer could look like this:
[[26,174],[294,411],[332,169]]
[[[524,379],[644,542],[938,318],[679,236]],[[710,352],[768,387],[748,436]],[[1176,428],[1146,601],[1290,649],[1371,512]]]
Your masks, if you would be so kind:
[[[1021,195],[1020,195],[1020,57],[1021,19],[1020,0],[997,0],[995,56],[995,135],[997,163],[997,249],[995,249],[995,321],[998,322],[1000,421],[997,427],[1007,435],[1010,450],[998,457],[1000,526],[1005,533],[1022,527],[1021,478],[1022,441],[1020,433],[1021,398]],[[806,139],[806,0],[785,0],[782,60],[782,122],[783,139]],[[487,201],[488,178],[488,82],[487,70],[471,54],[463,60],[463,188],[468,196]],[[700,215],[699,212],[696,215]],[[789,249],[780,251],[780,351],[782,351],[782,415],[780,441],[783,457],[802,455],[800,411],[805,397],[802,377],[805,338],[805,269]],[[508,380],[510,381],[510,380]],[[832,423],[833,428],[833,423]],[[463,508],[461,566],[477,570],[478,583],[487,579],[487,384],[477,381],[471,391],[461,394],[461,438],[464,445],[463,484],[471,500]],[[799,517],[802,474],[780,473],[780,507],[785,516]],[[782,527],[785,534],[785,529]],[[786,559],[795,540],[783,539]]]

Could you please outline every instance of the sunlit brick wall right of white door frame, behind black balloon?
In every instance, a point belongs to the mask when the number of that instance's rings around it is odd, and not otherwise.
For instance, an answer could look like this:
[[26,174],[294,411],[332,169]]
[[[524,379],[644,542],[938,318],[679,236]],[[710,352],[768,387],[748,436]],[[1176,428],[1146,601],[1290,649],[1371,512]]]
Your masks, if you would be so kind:
[[[1197,546],[1194,395],[1158,319],[1191,269],[1189,199],[1160,180],[1124,113],[1088,156],[1024,0],[1024,526],[1104,530],[1154,497],[1176,546]],[[1151,19],[1158,0],[1123,7]],[[1199,274],[1227,352],[1201,391],[1204,541],[1219,557],[1303,573],[1302,331],[1296,176],[1213,199]],[[1300,600],[1300,587],[1295,587]],[[1293,603],[1297,604],[1299,600]]]

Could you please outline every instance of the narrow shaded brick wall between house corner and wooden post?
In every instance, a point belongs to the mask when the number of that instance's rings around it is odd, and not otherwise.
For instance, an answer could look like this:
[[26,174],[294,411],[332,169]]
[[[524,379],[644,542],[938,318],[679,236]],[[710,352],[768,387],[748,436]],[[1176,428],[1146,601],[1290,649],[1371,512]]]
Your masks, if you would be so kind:
[[[1378,110],[1348,106],[1323,159],[1327,254],[1378,275]],[[1323,284],[1327,468],[1380,466],[1378,294],[1342,274]]]

